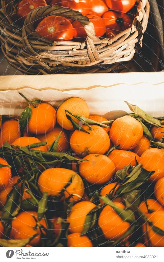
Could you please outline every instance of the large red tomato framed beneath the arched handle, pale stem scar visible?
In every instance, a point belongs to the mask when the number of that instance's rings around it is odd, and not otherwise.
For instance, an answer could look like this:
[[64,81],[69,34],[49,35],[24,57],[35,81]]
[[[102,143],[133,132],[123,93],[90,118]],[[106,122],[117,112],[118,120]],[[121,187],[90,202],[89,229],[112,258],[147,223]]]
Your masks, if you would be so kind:
[[70,21],[59,15],[47,16],[38,24],[35,31],[51,41],[70,41],[74,37],[74,28]]

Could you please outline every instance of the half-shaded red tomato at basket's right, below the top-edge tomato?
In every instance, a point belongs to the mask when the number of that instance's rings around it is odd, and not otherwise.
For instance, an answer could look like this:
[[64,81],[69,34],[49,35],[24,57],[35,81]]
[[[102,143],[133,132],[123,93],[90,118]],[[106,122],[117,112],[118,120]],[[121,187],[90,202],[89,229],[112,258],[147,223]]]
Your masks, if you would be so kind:
[[113,11],[106,12],[102,18],[104,19],[106,29],[112,29],[116,34],[130,27],[133,22],[129,15]]

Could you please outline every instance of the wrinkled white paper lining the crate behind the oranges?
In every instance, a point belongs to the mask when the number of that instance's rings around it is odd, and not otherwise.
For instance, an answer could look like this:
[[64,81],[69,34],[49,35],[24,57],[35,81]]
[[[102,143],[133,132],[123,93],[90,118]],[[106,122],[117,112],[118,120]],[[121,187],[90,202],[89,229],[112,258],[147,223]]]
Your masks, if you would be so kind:
[[56,108],[62,101],[70,97],[80,97],[87,102],[90,114],[102,115],[107,119],[115,119],[118,116],[131,113],[124,101],[139,106],[154,117],[164,115],[163,83],[156,85],[148,83],[118,84],[110,87],[92,87],[62,92],[55,89],[35,90],[32,88],[0,91],[0,114],[10,114],[17,117],[28,105],[18,92],[24,94],[29,100],[44,100]]

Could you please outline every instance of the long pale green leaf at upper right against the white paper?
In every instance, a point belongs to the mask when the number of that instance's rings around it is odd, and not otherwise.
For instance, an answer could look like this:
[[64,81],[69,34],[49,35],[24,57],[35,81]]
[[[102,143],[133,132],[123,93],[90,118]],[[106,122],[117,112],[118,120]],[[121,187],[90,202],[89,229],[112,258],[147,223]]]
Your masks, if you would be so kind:
[[139,108],[136,105],[131,105],[127,101],[125,103],[129,106],[130,110],[133,111],[135,114],[139,115],[142,119],[144,119],[147,123],[150,123],[156,127],[161,127],[161,122],[158,119],[155,119],[154,117],[147,114],[145,111],[143,111],[141,108]]

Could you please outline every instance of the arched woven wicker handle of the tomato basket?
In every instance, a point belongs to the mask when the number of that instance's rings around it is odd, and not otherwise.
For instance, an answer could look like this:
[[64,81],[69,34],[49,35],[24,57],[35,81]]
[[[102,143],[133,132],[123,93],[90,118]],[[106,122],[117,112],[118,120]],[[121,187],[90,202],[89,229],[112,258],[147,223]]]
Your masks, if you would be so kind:
[[[90,22],[87,16],[82,15],[80,12],[63,6],[39,6],[28,14],[22,28],[22,44],[24,48],[26,48],[26,50],[28,49],[32,54],[36,54],[36,51],[34,51],[34,49],[31,47],[27,36],[32,36],[33,38],[40,38],[40,35],[35,32],[35,29],[33,27],[34,22],[38,19],[45,18],[48,15],[60,15],[78,20],[84,27],[87,34],[86,43],[88,49],[88,56],[91,62],[101,60],[94,46],[94,41],[98,41],[99,38],[95,36],[93,23]],[[46,40],[46,42],[50,44],[50,41]]]

